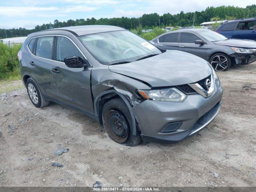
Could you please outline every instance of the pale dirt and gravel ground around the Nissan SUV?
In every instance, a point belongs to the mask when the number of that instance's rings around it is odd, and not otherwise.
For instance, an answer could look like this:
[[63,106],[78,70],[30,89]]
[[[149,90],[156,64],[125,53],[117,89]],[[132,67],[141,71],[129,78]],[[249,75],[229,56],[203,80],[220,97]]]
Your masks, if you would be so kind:
[[[2,93],[0,186],[256,186],[256,62],[217,74],[224,95],[215,120],[168,145],[122,146],[71,108],[36,108],[25,88]],[[56,156],[58,144],[69,151]]]

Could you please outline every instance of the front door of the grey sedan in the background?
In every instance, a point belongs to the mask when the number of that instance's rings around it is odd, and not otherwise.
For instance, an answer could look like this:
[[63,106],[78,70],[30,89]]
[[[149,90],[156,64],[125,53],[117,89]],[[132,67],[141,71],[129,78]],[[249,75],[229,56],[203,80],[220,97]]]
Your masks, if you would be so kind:
[[[203,59],[206,59],[207,54],[207,44],[195,44],[196,40],[202,40],[200,37],[193,33],[181,32],[180,33],[180,42],[178,44],[178,50],[188,52],[199,56]],[[202,40],[204,41],[204,40]]]

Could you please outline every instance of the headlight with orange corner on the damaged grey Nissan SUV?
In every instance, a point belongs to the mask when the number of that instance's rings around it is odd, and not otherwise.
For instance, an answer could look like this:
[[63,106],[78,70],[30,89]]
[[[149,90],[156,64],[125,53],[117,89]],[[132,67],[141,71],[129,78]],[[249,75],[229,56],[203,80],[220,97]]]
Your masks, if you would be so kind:
[[176,88],[164,88],[156,90],[138,90],[145,99],[154,101],[182,102],[186,95]]

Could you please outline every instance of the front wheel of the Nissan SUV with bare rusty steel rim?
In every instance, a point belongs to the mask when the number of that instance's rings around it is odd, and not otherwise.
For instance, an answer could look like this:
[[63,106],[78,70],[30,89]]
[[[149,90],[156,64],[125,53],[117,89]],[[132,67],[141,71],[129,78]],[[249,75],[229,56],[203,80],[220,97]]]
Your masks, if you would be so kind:
[[104,104],[102,121],[108,136],[115,142],[127,146],[140,144],[140,133],[136,130],[134,135],[130,111],[121,98],[112,99]]

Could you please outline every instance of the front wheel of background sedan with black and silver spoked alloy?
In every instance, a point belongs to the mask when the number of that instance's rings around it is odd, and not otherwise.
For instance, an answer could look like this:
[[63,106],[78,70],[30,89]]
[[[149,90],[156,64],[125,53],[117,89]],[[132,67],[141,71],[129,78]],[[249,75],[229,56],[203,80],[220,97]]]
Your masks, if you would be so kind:
[[231,59],[224,53],[216,53],[210,58],[210,64],[216,71],[227,71],[231,65]]

